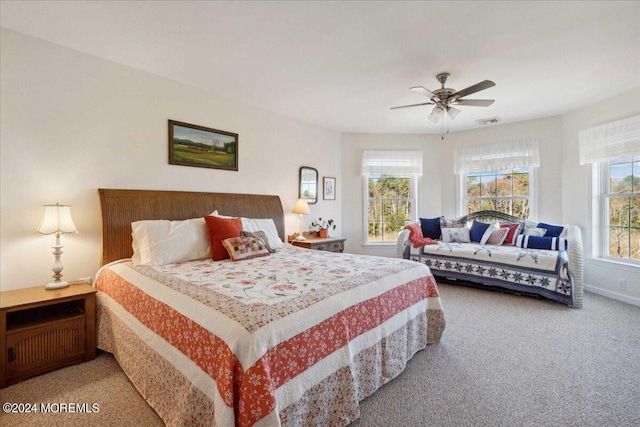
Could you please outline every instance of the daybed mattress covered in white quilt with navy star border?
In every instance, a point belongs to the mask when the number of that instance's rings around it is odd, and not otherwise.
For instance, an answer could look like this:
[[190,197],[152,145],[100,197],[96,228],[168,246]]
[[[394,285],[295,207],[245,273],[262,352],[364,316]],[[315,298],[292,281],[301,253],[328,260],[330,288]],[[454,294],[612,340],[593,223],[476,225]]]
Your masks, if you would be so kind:
[[573,278],[566,251],[438,242],[419,248],[411,246],[409,258],[425,264],[436,276],[574,304]]

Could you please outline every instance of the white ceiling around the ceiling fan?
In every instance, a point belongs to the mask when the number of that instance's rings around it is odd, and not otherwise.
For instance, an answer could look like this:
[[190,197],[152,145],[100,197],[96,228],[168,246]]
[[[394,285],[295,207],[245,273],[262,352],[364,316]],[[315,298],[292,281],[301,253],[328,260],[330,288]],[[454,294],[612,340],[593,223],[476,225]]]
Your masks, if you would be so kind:
[[[440,133],[409,90],[496,86],[452,132],[640,87],[640,2],[4,1],[3,27],[342,132]],[[640,103],[640,100],[639,100]]]

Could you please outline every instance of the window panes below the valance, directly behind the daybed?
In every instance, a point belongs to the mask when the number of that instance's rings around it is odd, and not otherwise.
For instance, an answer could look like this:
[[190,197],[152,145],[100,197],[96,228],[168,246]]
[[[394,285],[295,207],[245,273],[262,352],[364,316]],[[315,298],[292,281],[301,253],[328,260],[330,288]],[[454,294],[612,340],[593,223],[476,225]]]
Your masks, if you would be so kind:
[[529,218],[529,168],[472,172],[465,181],[465,214],[492,210]]

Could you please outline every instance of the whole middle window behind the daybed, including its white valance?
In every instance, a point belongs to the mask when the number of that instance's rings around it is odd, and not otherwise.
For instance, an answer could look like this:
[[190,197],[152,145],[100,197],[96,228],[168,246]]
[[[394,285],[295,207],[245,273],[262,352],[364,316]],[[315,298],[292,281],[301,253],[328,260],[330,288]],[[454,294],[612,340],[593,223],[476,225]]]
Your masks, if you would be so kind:
[[458,212],[494,210],[523,219],[535,217],[538,142],[524,139],[455,150],[460,176]]

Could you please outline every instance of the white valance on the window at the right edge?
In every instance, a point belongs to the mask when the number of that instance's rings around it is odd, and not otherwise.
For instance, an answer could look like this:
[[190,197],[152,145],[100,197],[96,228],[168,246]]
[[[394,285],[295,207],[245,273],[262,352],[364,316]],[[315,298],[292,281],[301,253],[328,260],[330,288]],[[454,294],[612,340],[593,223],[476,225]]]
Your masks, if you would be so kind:
[[581,130],[580,164],[599,163],[640,153],[640,115]]

